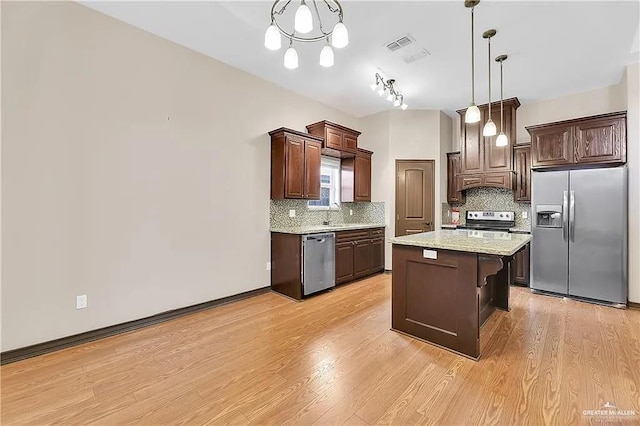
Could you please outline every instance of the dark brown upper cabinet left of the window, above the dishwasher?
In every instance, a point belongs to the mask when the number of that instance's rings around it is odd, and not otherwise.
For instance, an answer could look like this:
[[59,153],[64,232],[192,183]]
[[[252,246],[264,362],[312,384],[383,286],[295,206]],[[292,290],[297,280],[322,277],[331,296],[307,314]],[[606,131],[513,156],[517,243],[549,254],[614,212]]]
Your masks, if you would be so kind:
[[271,136],[271,199],[320,199],[323,138],[280,128]]

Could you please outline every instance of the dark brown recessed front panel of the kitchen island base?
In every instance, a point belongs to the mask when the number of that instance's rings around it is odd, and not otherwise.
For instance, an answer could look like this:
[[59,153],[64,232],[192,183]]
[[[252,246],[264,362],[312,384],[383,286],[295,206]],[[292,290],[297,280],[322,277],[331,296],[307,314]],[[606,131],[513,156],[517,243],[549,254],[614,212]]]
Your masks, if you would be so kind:
[[392,328],[473,359],[480,356],[475,253],[393,246]]

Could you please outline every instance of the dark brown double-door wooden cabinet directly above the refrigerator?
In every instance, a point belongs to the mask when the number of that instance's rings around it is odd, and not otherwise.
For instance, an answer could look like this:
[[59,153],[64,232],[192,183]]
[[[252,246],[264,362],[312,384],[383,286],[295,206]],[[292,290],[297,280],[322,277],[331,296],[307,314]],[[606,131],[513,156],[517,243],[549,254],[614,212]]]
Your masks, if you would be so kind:
[[617,166],[627,161],[627,113],[527,127],[534,169]]

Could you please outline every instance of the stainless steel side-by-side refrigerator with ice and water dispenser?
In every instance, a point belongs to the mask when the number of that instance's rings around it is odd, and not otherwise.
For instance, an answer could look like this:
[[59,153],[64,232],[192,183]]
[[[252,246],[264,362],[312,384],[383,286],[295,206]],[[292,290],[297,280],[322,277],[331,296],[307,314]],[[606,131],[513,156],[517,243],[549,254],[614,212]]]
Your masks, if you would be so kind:
[[531,288],[627,303],[627,169],[532,174]]

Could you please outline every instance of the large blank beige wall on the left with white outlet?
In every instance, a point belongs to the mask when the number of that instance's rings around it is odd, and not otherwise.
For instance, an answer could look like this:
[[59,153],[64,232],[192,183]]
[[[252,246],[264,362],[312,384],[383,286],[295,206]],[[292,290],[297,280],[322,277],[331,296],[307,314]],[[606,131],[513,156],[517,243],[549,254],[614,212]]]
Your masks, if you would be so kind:
[[2,351],[268,286],[266,133],[358,128],[67,2],[2,2],[2,87]]

